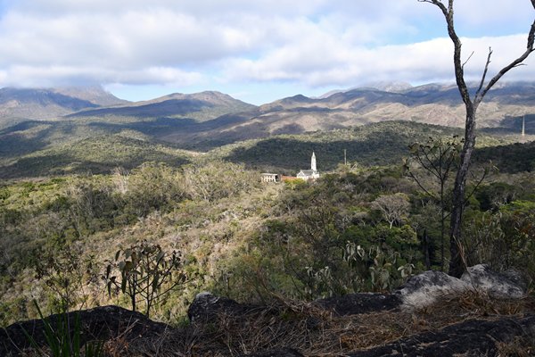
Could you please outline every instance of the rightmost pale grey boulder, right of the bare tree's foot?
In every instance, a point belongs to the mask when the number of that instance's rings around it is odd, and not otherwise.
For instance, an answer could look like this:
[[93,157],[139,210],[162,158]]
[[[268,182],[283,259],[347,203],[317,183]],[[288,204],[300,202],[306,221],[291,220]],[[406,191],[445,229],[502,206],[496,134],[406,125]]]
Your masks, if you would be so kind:
[[475,290],[495,298],[521,299],[527,295],[525,283],[518,272],[499,274],[484,264],[468,268],[461,280]]

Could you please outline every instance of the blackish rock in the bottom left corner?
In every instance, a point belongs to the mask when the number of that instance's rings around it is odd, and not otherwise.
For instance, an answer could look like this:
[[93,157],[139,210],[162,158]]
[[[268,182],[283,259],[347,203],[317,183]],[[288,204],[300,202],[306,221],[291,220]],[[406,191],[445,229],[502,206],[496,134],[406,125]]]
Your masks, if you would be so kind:
[[[96,307],[85,311],[72,311],[67,314],[70,330],[76,326],[79,316],[80,343],[87,341],[107,341],[117,336],[129,338],[159,336],[169,327],[160,322],[147,319],[142,313],[129,311],[119,306]],[[59,326],[60,315],[47,318],[53,328]],[[7,328],[0,328],[0,356],[18,356],[21,350],[30,346],[29,334],[38,346],[46,345],[45,324],[43,320],[16,322]]]

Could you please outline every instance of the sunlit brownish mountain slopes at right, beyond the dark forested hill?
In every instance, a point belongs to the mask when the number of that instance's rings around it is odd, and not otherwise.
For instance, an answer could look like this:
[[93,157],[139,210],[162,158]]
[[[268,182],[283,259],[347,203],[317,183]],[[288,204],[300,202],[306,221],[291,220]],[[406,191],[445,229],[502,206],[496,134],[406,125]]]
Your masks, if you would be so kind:
[[[388,87],[383,84],[383,87]],[[430,84],[395,92],[363,87],[338,91],[320,98],[294,95],[234,120],[212,120],[210,125],[170,130],[161,139],[184,147],[206,150],[251,138],[350,128],[385,120],[407,120],[462,127],[465,107],[454,85]],[[535,130],[535,85],[506,83],[490,91],[478,111],[481,128],[506,127],[520,132],[526,115],[528,131]],[[228,119],[228,118],[226,118]],[[528,125],[529,124],[529,125]]]

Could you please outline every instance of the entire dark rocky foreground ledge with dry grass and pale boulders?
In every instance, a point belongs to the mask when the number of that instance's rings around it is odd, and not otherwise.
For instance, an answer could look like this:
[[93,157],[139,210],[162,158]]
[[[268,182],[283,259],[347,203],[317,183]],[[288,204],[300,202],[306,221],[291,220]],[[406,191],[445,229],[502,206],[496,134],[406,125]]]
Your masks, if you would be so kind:
[[[68,320],[53,315],[51,325],[76,326],[77,313],[80,344],[104,341],[109,356],[535,355],[535,299],[513,273],[485,266],[461,279],[428,271],[391,295],[314,303],[259,306],[203,293],[183,328],[116,306],[71,312]],[[46,353],[44,329],[42,320],[0,329],[0,355],[35,355],[36,346]]]

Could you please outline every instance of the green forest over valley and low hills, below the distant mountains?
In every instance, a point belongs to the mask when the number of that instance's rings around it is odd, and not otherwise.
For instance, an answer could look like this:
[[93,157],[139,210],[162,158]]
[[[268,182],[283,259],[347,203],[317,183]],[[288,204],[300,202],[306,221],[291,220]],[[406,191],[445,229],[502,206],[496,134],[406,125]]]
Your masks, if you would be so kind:
[[[389,122],[206,154],[109,136],[4,156],[0,325],[37,317],[36,301],[46,312],[119,304],[177,326],[202,291],[311,301],[448,270],[457,134]],[[532,282],[535,147],[517,139],[478,138],[461,244],[466,265]],[[320,179],[260,182],[309,168],[312,151]],[[441,181],[425,165],[440,153]],[[150,284],[132,292],[128,277]]]

